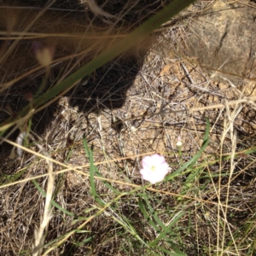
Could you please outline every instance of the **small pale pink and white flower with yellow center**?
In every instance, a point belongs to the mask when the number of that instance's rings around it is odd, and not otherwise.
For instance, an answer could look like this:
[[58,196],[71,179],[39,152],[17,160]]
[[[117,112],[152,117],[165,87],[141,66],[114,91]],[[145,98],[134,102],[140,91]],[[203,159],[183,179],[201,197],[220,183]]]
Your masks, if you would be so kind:
[[140,173],[143,179],[153,184],[162,181],[170,170],[166,159],[160,154],[145,156],[142,165],[143,169]]

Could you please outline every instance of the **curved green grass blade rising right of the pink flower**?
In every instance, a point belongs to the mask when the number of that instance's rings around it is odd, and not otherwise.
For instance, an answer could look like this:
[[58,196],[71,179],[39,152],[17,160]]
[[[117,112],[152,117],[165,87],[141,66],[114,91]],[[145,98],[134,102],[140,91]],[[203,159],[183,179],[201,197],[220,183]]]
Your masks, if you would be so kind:
[[185,163],[183,166],[177,169],[176,172],[172,172],[172,174],[167,176],[166,180],[171,180],[173,177],[176,177],[180,172],[183,172],[183,170],[185,170],[186,168],[192,168],[195,165],[195,162],[201,157],[201,154],[207,148],[207,145],[210,143],[209,131],[210,131],[210,122],[209,122],[209,119],[207,119],[207,128],[206,128],[203,143],[201,145],[201,149],[194,155],[194,157],[191,160],[189,160],[187,163]]

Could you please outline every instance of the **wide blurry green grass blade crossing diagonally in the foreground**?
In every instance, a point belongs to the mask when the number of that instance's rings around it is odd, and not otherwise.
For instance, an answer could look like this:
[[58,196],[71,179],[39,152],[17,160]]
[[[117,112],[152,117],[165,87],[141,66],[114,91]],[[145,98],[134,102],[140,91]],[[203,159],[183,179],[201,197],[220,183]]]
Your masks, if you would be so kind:
[[[24,117],[29,111],[31,111],[31,106],[36,109],[42,106],[44,103],[58,96],[61,92],[65,90],[70,90],[77,84],[79,79],[82,79],[97,68],[102,67],[108,61],[111,61],[114,57],[125,52],[125,50],[130,49],[131,46],[142,41],[143,38],[147,37],[151,32],[157,29],[161,24],[170,20],[172,16],[177,15],[182,9],[189,6],[190,3],[195,2],[195,0],[174,0],[172,3],[168,4],[165,9],[162,9],[156,15],[151,17],[149,20],[145,21],[142,26],[137,27],[133,32],[127,35],[125,38],[119,40],[108,49],[104,50],[101,54],[97,55],[93,60],[89,61],[83,67],[80,67],[76,72],[71,74],[61,81],[61,83],[56,84],[50,90],[46,91],[43,96],[39,96],[34,99],[29,105],[23,108],[18,117]],[[15,124],[17,116],[10,117],[3,124],[0,125],[0,131],[8,129],[11,125]]]

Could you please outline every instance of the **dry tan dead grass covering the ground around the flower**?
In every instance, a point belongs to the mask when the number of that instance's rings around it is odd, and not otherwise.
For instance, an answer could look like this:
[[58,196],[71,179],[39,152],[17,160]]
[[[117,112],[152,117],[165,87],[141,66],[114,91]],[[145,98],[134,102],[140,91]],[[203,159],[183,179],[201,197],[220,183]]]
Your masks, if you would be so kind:
[[[52,8],[82,9],[66,2],[56,2]],[[121,6],[119,1],[115,4]],[[135,23],[160,8],[154,4],[153,9],[148,5],[138,8],[136,14],[142,16]],[[106,11],[113,13],[113,6],[107,5]],[[60,17],[56,23],[60,29],[66,13],[55,11],[59,15],[52,17]],[[188,9],[184,15],[195,15],[194,11]],[[128,14],[130,19],[133,16]],[[187,17],[187,24],[194,19]],[[80,31],[76,18],[66,22],[72,31]],[[94,22],[107,27],[101,18]],[[45,24],[45,30],[53,29],[60,36],[54,26]],[[37,40],[44,34],[45,24],[35,26]],[[98,35],[93,23],[90,29]],[[125,32],[130,30],[131,25]],[[106,31],[117,37],[104,28],[105,36]],[[42,249],[40,255],[167,255],[175,248],[186,255],[254,255],[255,84],[246,79],[236,85],[216,82],[196,60],[181,58],[175,39],[186,38],[186,33],[186,26],[177,23],[148,38],[150,49],[143,45],[148,51],[138,47],[135,56],[126,53],[85,78],[75,90],[33,117],[31,126],[27,122],[32,137],[26,147],[15,143],[19,131],[4,134],[0,178],[0,247],[4,255],[32,255],[33,248]],[[26,36],[32,37],[28,32]],[[46,79],[50,82],[72,73],[96,55],[97,49],[112,44],[105,38],[92,46],[88,39],[84,39],[88,44],[74,44],[73,39],[67,44],[55,43],[58,67],[52,67]],[[20,42],[29,49],[32,38]],[[9,49],[8,44],[2,46]],[[33,95],[34,87],[45,79],[45,70],[38,68],[32,56],[25,59],[20,55],[24,49],[20,47],[7,55],[7,67],[2,66],[6,69],[1,74],[1,121],[26,105],[24,96]],[[14,62],[14,56],[20,57]],[[25,61],[29,67],[22,64]],[[14,81],[15,86],[11,85]],[[143,187],[139,174],[142,157],[164,154],[175,172],[200,150],[207,118],[211,143],[195,166],[159,185]],[[176,148],[178,136],[183,142],[181,155]],[[93,148],[98,170],[94,183],[83,137]],[[21,159],[12,150],[14,146],[23,148]],[[51,165],[54,185],[49,184]],[[50,188],[52,192],[46,192]],[[52,212],[49,198],[55,202]],[[42,226],[47,218],[49,224]],[[149,247],[169,225],[158,247]],[[40,226],[42,232],[35,236]],[[38,247],[42,241],[44,247]]]

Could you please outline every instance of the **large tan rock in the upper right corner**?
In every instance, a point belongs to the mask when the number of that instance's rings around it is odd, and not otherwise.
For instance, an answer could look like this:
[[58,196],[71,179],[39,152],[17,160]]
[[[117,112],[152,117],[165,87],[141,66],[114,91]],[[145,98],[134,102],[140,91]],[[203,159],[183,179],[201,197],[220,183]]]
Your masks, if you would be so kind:
[[198,15],[177,46],[180,55],[196,58],[212,79],[236,84],[256,79],[256,4],[228,2],[218,1]]

